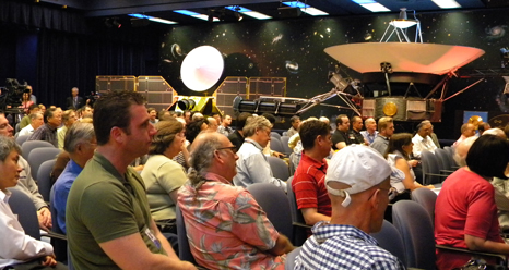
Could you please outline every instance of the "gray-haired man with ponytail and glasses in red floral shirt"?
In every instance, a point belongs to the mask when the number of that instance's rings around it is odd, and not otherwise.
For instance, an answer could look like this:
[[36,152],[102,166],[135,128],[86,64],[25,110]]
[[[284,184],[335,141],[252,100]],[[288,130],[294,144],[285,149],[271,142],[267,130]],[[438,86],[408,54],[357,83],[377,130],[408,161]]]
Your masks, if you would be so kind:
[[294,247],[252,195],[232,185],[236,159],[236,146],[218,133],[191,145],[189,180],[178,192],[191,253],[208,269],[284,269],[282,255]]

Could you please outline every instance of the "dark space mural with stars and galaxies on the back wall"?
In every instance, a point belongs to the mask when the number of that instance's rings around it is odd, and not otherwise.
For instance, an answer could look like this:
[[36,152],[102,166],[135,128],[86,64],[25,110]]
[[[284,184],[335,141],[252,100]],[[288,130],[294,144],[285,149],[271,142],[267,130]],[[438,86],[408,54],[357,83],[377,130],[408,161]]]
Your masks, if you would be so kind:
[[[175,26],[163,37],[159,72],[180,95],[196,95],[186,90],[180,79],[180,64],[189,51],[210,45],[224,56],[225,76],[286,77],[286,96],[311,98],[330,91],[333,87],[328,75],[334,71],[338,62],[323,49],[342,44],[379,42],[388,23],[395,16],[398,15],[301,17]],[[409,17],[412,16],[409,12]],[[487,69],[502,68],[500,49],[509,48],[507,10],[423,14],[417,11],[417,19],[421,21],[424,42],[485,50],[483,57],[463,69],[478,69],[484,72]],[[413,38],[414,34],[409,32],[409,36]],[[396,41],[395,36],[391,41]],[[342,70],[346,72],[343,76],[360,78],[360,74],[355,71],[345,66]],[[507,72],[509,73],[509,68]],[[477,79],[480,77],[453,77],[446,96]],[[445,103],[442,122],[453,118],[457,110],[509,112],[509,100],[502,95],[505,85],[500,75],[486,76],[480,84]],[[422,95],[425,96],[427,91],[429,89],[425,88]],[[330,115],[323,108],[312,113]],[[352,112],[344,112],[352,115]],[[338,114],[338,111],[333,109],[333,113]]]

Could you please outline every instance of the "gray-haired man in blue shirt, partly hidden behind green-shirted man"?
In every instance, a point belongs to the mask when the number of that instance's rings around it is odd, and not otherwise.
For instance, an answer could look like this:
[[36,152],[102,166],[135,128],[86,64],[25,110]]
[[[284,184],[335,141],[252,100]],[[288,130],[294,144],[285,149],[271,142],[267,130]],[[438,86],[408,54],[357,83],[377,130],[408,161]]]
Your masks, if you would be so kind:
[[71,160],[67,163],[60,176],[55,182],[55,197],[51,207],[57,212],[57,225],[66,234],[66,205],[72,183],[81,173],[86,162],[94,156],[97,140],[94,126],[90,123],[74,123],[66,134],[63,149]]

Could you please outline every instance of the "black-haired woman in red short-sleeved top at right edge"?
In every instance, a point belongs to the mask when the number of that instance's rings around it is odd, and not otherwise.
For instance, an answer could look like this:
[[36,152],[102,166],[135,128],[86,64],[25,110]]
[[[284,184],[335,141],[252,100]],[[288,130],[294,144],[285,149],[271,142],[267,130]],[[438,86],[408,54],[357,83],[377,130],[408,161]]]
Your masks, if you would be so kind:
[[[509,144],[494,135],[481,136],[466,155],[466,167],[443,182],[435,207],[435,240],[438,245],[475,251],[509,254],[500,237],[494,176],[507,179]],[[464,266],[471,254],[437,249],[439,270]],[[488,258],[485,258],[488,263]]]

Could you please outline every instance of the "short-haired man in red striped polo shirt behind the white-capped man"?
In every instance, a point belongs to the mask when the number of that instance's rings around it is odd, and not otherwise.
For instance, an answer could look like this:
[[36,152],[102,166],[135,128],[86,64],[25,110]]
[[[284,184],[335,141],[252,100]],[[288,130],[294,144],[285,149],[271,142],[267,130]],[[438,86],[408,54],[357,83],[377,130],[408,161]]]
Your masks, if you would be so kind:
[[331,152],[331,127],[321,121],[306,121],[300,125],[303,158],[292,181],[297,207],[306,224],[330,220],[331,200],[325,188],[325,157]]

